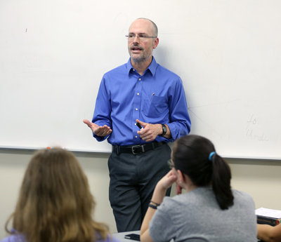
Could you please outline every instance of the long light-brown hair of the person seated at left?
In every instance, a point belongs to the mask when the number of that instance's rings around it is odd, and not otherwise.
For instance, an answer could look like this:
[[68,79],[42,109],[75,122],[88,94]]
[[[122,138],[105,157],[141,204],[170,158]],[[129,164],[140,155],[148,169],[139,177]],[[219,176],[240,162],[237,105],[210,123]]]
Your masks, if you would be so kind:
[[28,242],[105,239],[107,225],[91,217],[95,204],[74,154],[60,148],[41,149],[25,171],[18,203],[6,230],[13,217],[13,229],[25,235]]

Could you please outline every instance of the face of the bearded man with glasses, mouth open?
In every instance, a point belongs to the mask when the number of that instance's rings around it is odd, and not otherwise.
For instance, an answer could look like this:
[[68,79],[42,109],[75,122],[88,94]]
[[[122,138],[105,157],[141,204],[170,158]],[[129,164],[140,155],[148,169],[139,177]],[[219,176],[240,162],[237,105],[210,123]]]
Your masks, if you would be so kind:
[[152,58],[153,49],[157,47],[157,38],[139,38],[138,36],[153,36],[153,25],[149,20],[133,21],[129,28],[129,35],[136,35],[128,39],[128,50],[134,62],[145,62]]

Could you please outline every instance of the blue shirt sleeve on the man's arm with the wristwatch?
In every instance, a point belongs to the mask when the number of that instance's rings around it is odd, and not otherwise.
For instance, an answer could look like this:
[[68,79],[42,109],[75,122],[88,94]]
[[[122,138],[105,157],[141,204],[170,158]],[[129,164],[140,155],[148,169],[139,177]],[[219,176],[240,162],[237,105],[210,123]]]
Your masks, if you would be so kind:
[[188,135],[190,133],[190,116],[188,114],[188,105],[185,98],[185,90],[183,88],[183,82],[178,77],[174,81],[174,85],[169,93],[170,103],[170,123],[166,123],[171,130],[171,140],[174,141],[180,137]]

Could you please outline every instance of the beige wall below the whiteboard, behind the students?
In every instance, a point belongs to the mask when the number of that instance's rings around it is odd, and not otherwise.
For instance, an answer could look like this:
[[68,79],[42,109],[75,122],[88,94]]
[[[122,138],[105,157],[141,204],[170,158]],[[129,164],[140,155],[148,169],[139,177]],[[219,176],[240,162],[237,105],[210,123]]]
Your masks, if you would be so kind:
[[[27,163],[33,152],[0,149],[0,239],[6,236],[4,224],[15,208],[18,191]],[[75,153],[89,179],[91,192],[96,199],[95,220],[106,222],[112,233],[116,232],[115,220],[108,201],[109,154]],[[281,209],[281,162],[228,159],[233,180],[232,187],[247,191],[254,198],[256,208]],[[172,196],[175,189],[172,189]]]

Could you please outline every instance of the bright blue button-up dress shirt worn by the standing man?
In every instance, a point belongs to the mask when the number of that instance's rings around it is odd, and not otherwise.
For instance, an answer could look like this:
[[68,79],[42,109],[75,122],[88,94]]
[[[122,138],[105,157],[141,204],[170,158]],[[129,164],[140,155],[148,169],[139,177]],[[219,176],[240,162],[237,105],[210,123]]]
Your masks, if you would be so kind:
[[136,119],[169,126],[171,138],[157,136],[157,142],[173,142],[190,132],[181,78],[157,64],[155,58],[142,76],[133,69],[131,59],[104,74],[92,122],[109,126],[112,133],[93,136],[113,145],[147,144],[137,133]]

